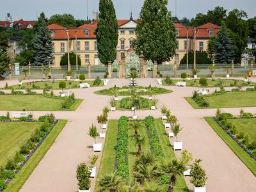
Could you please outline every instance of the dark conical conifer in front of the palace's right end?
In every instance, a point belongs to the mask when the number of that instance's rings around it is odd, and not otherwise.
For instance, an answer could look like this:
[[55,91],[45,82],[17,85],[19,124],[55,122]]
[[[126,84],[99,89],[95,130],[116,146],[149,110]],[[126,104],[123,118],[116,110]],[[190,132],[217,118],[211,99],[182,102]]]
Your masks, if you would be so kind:
[[225,26],[218,31],[211,49],[215,63],[231,63],[234,60],[234,44]]

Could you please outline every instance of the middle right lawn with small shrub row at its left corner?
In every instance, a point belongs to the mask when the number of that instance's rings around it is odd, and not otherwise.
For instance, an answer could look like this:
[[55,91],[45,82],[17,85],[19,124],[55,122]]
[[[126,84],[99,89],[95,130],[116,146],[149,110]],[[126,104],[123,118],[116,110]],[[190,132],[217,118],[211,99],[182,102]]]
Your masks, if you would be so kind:
[[[256,92],[226,92],[221,95],[205,96],[205,101],[209,102],[208,108],[245,108],[256,107]],[[188,102],[196,109],[200,108],[192,98],[186,98]]]

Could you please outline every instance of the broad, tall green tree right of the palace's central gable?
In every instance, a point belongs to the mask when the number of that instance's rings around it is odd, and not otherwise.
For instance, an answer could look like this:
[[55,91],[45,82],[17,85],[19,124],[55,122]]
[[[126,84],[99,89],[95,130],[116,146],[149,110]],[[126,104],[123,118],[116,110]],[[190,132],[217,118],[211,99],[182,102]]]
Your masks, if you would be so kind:
[[175,55],[176,34],[168,0],[145,0],[135,29],[136,52],[144,52],[146,60],[169,61]]

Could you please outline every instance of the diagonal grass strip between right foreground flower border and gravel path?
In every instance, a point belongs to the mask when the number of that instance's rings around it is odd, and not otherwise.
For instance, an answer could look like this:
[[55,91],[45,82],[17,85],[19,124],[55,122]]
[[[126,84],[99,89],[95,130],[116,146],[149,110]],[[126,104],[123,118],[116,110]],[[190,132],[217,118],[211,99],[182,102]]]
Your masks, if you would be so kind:
[[212,127],[212,129],[220,136],[220,138],[230,147],[230,149],[236,154],[241,161],[248,167],[248,169],[256,176],[256,161],[250,157],[241,148],[236,141],[234,141],[228,134],[221,129],[221,127],[214,121],[212,117],[205,117],[207,123]]

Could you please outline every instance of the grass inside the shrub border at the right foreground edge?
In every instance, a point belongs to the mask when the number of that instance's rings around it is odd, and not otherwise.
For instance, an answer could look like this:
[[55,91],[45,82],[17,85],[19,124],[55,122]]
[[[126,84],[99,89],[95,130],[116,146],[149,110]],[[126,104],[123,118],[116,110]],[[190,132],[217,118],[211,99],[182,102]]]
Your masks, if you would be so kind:
[[229,119],[228,122],[236,125],[237,132],[247,133],[249,142],[256,141],[256,118]]

